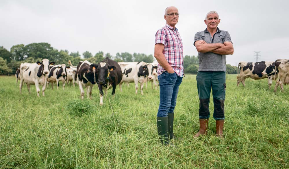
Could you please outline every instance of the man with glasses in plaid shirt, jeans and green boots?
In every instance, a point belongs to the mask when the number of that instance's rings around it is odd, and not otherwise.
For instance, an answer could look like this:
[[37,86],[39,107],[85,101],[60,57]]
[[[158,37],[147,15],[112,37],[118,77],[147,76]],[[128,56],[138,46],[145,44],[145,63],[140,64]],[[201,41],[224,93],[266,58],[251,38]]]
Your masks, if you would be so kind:
[[158,61],[160,84],[160,105],[157,114],[157,128],[160,140],[168,145],[175,139],[173,133],[174,110],[179,85],[183,78],[183,42],[175,25],[179,20],[176,7],[167,7],[164,14],[166,25],[155,34],[155,53]]

